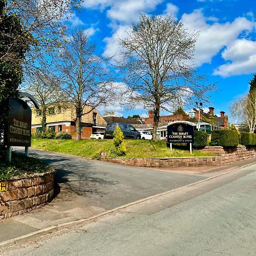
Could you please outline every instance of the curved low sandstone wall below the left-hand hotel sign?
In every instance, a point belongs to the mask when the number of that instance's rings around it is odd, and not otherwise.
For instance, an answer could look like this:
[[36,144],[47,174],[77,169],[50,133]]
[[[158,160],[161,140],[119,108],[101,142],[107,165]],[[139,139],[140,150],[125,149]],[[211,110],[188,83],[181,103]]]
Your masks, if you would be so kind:
[[53,197],[54,172],[8,180],[8,191],[0,192],[0,219],[42,207]]

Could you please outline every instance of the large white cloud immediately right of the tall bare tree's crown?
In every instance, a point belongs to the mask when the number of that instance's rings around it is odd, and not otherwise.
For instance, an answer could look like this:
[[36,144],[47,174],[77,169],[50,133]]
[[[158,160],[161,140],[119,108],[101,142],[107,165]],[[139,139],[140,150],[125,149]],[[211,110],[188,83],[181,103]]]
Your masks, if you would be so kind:
[[200,31],[195,47],[196,65],[210,63],[212,57],[228,46],[244,31],[252,31],[254,23],[246,18],[236,18],[233,22],[207,23],[202,10],[194,10],[191,14],[183,14],[182,21],[189,32]]

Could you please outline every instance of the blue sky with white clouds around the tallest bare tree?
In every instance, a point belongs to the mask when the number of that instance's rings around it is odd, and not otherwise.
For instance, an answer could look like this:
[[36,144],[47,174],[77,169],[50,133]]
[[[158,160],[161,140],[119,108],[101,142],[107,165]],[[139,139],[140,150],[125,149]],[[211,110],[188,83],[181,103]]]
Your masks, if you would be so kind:
[[[189,31],[200,31],[195,63],[209,84],[218,90],[211,93],[214,113],[229,114],[229,102],[249,90],[248,82],[256,73],[256,1],[254,0],[84,0],[80,13],[71,18],[73,26],[90,31],[98,51],[105,56],[118,52],[118,38],[139,14],[172,14]],[[255,15],[255,18],[254,18]],[[205,105],[205,107],[207,107]],[[147,115],[148,110],[126,110],[122,105],[109,106],[125,117]],[[104,109],[100,109],[104,113]]]

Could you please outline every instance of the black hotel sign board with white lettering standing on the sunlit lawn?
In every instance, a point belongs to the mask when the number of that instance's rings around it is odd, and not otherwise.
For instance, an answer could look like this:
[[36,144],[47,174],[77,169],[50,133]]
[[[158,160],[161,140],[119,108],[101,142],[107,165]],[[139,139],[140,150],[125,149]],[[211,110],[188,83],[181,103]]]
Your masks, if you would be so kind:
[[167,126],[168,143],[193,143],[194,127],[188,123],[174,123]]

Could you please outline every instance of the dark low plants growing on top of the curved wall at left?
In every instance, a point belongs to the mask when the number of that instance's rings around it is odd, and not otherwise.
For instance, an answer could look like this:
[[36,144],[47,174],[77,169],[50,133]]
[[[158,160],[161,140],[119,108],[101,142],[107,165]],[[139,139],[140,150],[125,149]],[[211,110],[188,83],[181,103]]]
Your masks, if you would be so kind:
[[31,157],[18,155],[13,152],[11,162],[0,162],[0,180],[8,180],[14,176],[28,176],[34,173],[49,172],[52,167]]

